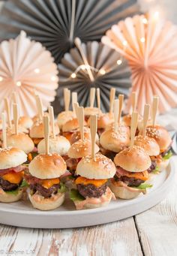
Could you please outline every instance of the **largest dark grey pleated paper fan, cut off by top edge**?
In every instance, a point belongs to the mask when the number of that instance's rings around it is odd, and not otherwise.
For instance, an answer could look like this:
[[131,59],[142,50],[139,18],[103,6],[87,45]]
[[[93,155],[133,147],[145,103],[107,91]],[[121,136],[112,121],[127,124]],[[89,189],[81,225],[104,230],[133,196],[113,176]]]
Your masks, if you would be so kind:
[[118,20],[139,11],[137,0],[9,0],[0,16],[0,38],[25,30],[59,62],[74,38],[98,41]]

